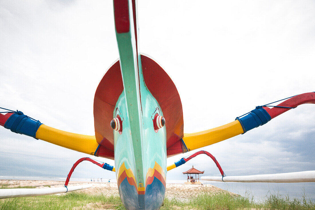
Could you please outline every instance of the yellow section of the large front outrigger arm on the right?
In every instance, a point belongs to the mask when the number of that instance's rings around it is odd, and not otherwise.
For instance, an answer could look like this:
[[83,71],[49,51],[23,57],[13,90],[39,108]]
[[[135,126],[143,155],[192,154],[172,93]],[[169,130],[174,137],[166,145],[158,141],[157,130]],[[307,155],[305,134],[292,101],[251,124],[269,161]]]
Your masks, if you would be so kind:
[[[183,140],[188,150],[193,150],[221,142],[228,138],[242,134],[243,132],[241,123],[238,120],[235,120],[231,123],[210,130],[197,133],[186,133],[184,134]],[[169,169],[169,167],[167,167],[167,170],[172,169]]]

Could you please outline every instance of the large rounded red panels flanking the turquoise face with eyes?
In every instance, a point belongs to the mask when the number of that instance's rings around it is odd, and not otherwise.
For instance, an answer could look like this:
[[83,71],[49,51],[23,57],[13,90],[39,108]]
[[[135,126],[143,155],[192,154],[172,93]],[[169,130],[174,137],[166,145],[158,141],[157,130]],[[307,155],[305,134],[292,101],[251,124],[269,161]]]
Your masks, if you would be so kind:
[[[177,89],[169,75],[155,61],[141,55],[141,62],[146,86],[159,103],[163,117],[167,120],[165,123],[167,155],[183,153],[184,150],[180,143],[180,139],[184,136],[183,109]],[[114,150],[114,135],[110,122],[116,102],[122,92],[123,80],[119,61],[117,61],[105,73],[94,96],[96,141],[112,151]],[[169,149],[171,153],[169,153]],[[106,155],[109,154],[106,153]],[[114,155],[107,158],[113,159]]]

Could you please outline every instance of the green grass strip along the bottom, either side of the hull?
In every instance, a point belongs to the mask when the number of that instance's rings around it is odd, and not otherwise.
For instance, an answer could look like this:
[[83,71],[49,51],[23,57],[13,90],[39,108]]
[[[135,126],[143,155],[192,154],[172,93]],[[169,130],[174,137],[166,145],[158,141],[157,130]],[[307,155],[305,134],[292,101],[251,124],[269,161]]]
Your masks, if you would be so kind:
[[[118,195],[88,195],[72,192],[66,195],[45,195],[36,197],[8,198],[0,200],[1,210],[10,209],[125,209]],[[268,210],[315,210],[315,203],[302,199],[290,200],[289,197],[270,195],[263,203],[255,203],[248,197],[230,195],[228,193],[199,194],[197,198],[188,201],[166,198],[161,209],[205,209],[205,210],[240,210],[240,209],[268,209]]]

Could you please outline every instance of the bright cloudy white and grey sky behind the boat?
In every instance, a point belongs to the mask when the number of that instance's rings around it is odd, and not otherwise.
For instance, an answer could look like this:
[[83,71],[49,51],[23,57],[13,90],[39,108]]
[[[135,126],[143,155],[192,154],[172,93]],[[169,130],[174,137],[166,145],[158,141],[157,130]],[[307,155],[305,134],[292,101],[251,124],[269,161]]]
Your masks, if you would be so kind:
[[[184,133],[315,91],[314,9],[311,0],[139,0],[140,52],[175,83]],[[112,1],[0,2],[0,107],[60,130],[95,135],[94,93],[118,57]],[[231,176],[314,170],[314,119],[314,105],[301,105],[201,149]],[[0,129],[0,144],[0,176],[66,177],[77,159],[88,156],[7,129]],[[196,151],[171,157],[168,165]],[[220,176],[212,160],[199,155],[167,178],[185,179],[181,172],[192,165],[206,176]],[[90,163],[72,176],[115,178]]]

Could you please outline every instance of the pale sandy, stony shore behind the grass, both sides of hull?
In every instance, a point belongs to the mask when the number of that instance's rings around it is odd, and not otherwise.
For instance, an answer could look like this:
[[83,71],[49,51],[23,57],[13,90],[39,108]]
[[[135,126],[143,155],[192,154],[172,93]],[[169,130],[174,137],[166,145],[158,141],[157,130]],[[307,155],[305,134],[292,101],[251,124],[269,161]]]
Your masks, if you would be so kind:
[[[47,181],[47,180],[0,180],[0,186],[6,185],[6,187],[18,187],[18,186],[35,186],[36,188],[49,188],[50,187],[63,187],[63,181]],[[79,190],[77,192],[87,193],[87,194],[103,194],[105,196],[109,195],[119,195],[117,183],[109,182],[73,182],[70,181],[68,186],[82,185],[82,184],[92,184],[93,187]],[[188,198],[196,197],[198,194],[203,192],[218,193],[227,192],[231,195],[233,193],[222,190],[213,185],[207,184],[166,184],[166,194],[165,197],[169,199],[187,200]]]

